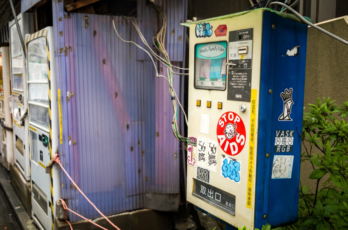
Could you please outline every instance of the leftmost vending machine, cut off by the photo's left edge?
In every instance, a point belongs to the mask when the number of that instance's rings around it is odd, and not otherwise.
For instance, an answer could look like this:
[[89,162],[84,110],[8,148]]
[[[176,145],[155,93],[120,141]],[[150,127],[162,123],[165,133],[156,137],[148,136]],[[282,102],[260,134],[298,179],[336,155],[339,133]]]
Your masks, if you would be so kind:
[[0,47],[0,162],[7,170],[13,164],[12,119],[10,108],[11,77],[9,47]]

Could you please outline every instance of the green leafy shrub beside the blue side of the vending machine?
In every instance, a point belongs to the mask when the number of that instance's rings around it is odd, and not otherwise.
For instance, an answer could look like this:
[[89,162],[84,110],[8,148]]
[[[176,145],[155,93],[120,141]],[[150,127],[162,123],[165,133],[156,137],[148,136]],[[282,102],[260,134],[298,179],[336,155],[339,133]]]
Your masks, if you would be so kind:
[[303,117],[301,161],[310,161],[316,188],[300,183],[298,222],[283,229],[348,229],[348,102],[323,99]]

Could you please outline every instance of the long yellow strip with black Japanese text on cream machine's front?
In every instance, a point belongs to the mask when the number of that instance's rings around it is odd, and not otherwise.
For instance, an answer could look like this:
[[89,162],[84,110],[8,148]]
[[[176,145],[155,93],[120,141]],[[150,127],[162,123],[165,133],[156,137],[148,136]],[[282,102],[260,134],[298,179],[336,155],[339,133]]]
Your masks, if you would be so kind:
[[250,109],[250,139],[249,139],[249,158],[248,158],[248,185],[246,190],[246,207],[252,208],[253,203],[253,180],[254,180],[254,160],[255,160],[255,131],[256,131],[256,97],[257,90],[251,90],[251,109]]

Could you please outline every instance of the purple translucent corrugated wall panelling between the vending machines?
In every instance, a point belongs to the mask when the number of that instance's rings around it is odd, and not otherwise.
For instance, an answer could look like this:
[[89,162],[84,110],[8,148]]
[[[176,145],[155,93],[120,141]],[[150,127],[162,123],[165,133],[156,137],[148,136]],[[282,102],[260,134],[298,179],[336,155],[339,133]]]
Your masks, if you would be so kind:
[[[64,17],[63,7],[53,2],[62,165],[105,215],[143,208],[147,192],[179,193],[179,157],[174,155],[179,142],[171,130],[167,83],[155,79],[150,61],[139,61],[134,44],[117,37],[111,16]],[[137,40],[127,19],[113,18],[122,38]],[[148,30],[154,31],[151,23]],[[182,95],[180,81],[174,83]],[[68,101],[69,92],[74,96]],[[70,208],[87,218],[99,216],[62,172],[61,184]]]

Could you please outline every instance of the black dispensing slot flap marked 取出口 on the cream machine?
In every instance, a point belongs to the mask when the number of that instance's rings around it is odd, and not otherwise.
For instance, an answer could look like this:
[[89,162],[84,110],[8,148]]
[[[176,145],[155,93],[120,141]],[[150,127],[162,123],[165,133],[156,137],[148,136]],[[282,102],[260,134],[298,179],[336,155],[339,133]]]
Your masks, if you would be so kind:
[[219,188],[216,188],[203,181],[193,179],[192,196],[198,197],[205,202],[214,205],[217,208],[235,215],[236,212],[236,196],[229,194]]

